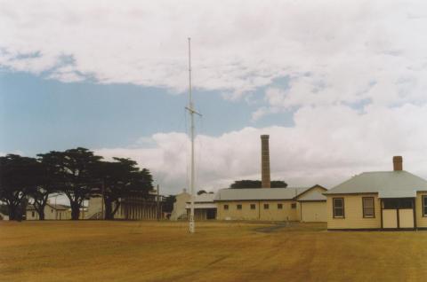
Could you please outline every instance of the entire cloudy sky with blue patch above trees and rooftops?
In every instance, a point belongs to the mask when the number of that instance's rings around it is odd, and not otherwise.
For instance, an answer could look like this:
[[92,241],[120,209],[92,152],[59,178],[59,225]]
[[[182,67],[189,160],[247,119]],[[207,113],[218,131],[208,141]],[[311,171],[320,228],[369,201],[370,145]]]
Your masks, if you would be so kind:
[[85,146],[188,185],[187,38],[197,187],[332,187],[367,170],[427,177],[425,1],[0,0],[0,153]]

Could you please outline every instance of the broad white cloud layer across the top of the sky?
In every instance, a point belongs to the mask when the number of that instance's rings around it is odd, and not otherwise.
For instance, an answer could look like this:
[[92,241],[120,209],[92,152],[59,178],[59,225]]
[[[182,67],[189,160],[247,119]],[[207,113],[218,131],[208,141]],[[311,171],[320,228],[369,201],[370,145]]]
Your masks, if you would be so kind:
[[[72,82],[196,87],[239,98],[274,78],[279,106],[425,102],[423,1],[2,1],[0,65]],[[38,54],[36,57],[22,54]],[[70,56],[73,70],[63,72]],[[277,105],[274,105],[277,106]],[[256,115],[256,114],[255,114]]]

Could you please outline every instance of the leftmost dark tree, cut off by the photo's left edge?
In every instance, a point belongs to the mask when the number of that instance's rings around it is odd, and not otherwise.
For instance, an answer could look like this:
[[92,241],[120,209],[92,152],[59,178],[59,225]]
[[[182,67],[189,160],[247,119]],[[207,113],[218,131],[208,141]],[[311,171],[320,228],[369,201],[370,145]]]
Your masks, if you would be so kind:
[[39,163],[36,159],[8,154],[0,157],[0,200],[9,211],[9,220],[21,220],[27,206],[28,192],[37,184]]

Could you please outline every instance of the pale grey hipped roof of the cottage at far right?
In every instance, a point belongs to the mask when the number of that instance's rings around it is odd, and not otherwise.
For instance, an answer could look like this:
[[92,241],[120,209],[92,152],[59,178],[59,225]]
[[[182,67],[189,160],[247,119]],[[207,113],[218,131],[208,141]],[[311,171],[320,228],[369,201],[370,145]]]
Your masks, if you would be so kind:
[[410,192],[427,191],[427,181],[405,170],[364,172],[336,185],[324,194],[381,192],[405,197]]

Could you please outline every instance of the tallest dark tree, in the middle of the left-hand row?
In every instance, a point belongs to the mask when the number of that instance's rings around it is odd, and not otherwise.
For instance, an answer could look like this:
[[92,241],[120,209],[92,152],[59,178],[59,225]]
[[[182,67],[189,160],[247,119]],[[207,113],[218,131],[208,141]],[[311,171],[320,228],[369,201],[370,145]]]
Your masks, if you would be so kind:
[[99,186],[94,179],[94,170],[102,158],[82,147],[65,152],[51,151],[39,157],[54,168],[55,189],[67,195],[71,219],[77,220],[84,200],[89,199],[93,189]]

